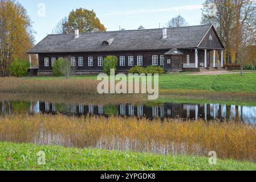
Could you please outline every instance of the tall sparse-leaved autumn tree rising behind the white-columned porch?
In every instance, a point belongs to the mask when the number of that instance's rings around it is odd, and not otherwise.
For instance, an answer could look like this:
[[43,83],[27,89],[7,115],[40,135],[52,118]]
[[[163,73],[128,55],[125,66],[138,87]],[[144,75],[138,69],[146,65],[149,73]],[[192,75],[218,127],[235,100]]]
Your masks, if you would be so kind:
[[256,36],[255,1],[208,0],[203,6],[201,23],[214,24],[226,49],[226,63],[231,64],[233,60],[238,63],[239,45],[243,41],[242,34],[250,29],[254,31],[250,31],[251,34],[246,36],[247,39]]

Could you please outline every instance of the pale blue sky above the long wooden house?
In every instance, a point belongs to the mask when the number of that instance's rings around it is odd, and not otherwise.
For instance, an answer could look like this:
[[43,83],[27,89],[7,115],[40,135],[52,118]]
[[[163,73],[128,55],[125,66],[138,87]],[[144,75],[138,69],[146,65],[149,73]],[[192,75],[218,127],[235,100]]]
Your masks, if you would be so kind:
[[168,20],[181,15],[189,26],[200,24],[204,0],[19,0],[35,31],[35,43],[52,34],[56,24],[70,11],[82,7],[94,10],[107,31],[165,27]]

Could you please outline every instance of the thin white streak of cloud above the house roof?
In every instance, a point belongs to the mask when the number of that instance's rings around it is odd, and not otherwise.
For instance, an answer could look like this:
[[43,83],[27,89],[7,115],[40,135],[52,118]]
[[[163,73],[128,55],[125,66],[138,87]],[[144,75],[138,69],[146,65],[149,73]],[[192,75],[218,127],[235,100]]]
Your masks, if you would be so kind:
[[202,5],[187,5],[187,6],[174,6],[165,9],[152,9],[152,10],[134,10],[134,11],[119,11],[106,13],[101,15],[133,15],[133,14],[144,14],[144,13],[158,13],[158,12],[168,12],[168,11],[180,11],[180,10],[197,10],[202,9]]

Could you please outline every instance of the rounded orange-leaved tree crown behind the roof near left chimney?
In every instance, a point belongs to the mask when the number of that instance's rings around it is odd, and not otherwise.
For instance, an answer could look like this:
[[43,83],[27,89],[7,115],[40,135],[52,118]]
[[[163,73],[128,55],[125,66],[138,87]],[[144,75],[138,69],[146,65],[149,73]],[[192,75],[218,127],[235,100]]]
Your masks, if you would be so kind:
[[106,28],[100,23],[96,17],[94,10],[76,9],[72,10],[68,15],[68,20],[63,24],[62,29],[68,33],[75,32],[78,29],[80,32],[104,32]]

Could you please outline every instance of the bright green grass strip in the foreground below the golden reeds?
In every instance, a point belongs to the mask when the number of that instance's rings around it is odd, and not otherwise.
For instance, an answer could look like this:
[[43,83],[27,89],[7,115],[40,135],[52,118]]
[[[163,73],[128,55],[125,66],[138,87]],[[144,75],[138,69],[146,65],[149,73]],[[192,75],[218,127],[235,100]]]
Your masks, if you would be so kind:
[[[39,165],[39,151],[46,164]],[[256,170],[255,163],[195,156],[163,156],[147,153],[0,143],[1,170]]]

